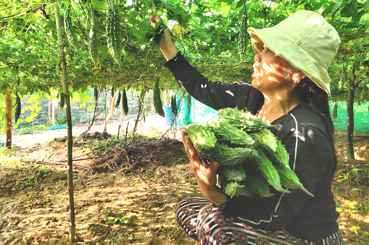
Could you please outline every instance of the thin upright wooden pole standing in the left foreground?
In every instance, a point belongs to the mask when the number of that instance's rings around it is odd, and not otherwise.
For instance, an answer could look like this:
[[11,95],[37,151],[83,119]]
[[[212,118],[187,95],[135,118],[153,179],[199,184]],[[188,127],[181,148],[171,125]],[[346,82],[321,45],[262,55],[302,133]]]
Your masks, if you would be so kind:
[[68,89],[68,79],[67,79],[67,69],[66,60],[64,53],[64,43],[63,35],[61,33],[61,22],[60,22],[60,12],[59,5],[54,4],[55,8],[55,20],[56,20],[56,30],[58,34],[58,47],[59,47],[59,59],[61,68],[61,77],[63,81],[63,93],[65,99],[65,112],[67,116],[67,147],[68,147],[68,193],[69,193],[69,210],[70,210],[70,232],[69,239],[71,242],[75,239],[75,222],[74,222],[74,196],[73,196],[73,172],[72,172],[72,115],[70,113],[70,99],[69,99],[69,89]]

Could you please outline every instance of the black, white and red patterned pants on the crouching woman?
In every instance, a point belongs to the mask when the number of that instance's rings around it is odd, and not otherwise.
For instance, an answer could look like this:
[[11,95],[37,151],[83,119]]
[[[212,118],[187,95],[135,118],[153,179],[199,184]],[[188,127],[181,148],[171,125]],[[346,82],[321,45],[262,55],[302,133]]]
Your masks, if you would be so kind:
[[181,229],[202,245],[343,245],[339,230],[324,239],[308,242],[295,238],[284,229],[276,232],[254,229],[213,207],[205,197],[182,200],[175,217]]

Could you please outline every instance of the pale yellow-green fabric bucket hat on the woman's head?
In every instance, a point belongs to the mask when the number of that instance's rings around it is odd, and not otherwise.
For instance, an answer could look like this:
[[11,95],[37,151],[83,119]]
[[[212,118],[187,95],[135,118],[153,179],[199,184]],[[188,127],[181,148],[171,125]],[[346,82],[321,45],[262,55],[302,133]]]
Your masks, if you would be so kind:
[[270,28],[248,28],[255,53],[269,48],[304,72],[330,96],[328,67],[341,43],[337,31],[318,13],[297,11]]

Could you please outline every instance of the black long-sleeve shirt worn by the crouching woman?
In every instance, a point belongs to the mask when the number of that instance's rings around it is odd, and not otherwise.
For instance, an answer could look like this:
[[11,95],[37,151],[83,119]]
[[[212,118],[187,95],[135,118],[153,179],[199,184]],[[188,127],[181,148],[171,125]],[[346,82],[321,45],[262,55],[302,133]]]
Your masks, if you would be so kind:
[[[264,102],[250,84],[208,80],[180,53],[165,65],[190,95],[216,110],[233,107],[256,114]],[[291,193],[273,189],[272,197],[228,198],[224,211],[254,228],[286,229],[303,240],[329,236],[338,230],[338,213],[331,191],[333,156],[322,120],[307,104],[299,104],[271,124],[278,125],[269,130],[285,145],[291,169],[314,197],[300,189]]]

